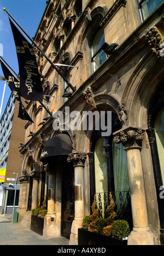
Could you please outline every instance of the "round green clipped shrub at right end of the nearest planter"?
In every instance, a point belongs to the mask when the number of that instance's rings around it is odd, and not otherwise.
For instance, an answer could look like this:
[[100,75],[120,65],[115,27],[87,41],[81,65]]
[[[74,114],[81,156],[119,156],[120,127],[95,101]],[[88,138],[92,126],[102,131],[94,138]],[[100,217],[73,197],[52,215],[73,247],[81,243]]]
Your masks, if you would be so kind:
[[118,239],[130,235],[129,224],[125,220],[116,220],[112,225],[112,236]]

